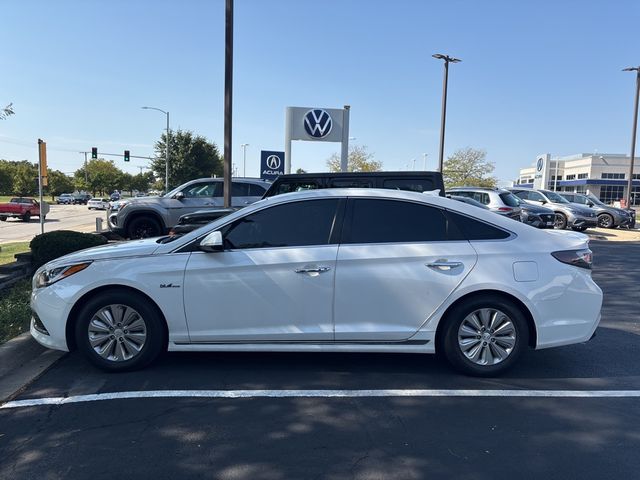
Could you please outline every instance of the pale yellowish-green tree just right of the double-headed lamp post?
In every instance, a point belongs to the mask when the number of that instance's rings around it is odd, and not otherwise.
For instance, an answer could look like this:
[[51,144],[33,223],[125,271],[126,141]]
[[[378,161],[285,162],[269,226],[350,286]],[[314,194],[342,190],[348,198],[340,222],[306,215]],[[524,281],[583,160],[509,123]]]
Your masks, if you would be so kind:
[[498,179],[490,174],[495,165],[487,161],[487,152],[475,148],[457,150],[447,158],[442,168],[446,188],[472,186],[490,187],[497,185]]

